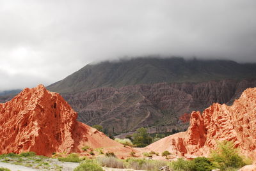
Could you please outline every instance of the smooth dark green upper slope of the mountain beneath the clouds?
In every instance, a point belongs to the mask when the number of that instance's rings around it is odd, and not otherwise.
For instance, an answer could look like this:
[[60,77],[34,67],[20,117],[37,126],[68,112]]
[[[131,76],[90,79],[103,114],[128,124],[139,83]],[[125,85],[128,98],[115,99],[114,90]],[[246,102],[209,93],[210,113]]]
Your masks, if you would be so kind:
[[255,77],[256,64],[225,60],[136,58],[88,64],[47,89],[58,93],[84,92],[98,87],[155,84],[159,82],[206,82]]

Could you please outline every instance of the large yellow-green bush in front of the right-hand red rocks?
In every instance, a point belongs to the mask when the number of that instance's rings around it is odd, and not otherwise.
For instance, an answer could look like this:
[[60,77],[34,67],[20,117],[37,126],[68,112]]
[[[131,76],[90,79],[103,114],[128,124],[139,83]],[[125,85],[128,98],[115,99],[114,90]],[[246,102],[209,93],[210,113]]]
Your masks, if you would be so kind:
[[228,141],[219,142],[217,149],[212,151],[211,156],[212,160],[218,163],[221,170],[228,167],[241,168],[247,164],[244,158],[239,155],[239,149],[236,149],[234,144]]

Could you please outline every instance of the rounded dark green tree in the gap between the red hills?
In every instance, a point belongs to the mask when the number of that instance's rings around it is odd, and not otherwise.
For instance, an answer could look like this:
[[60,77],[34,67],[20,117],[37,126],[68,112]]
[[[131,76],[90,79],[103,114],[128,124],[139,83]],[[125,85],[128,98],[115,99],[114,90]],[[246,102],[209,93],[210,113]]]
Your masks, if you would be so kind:
[[147,133],[146,128],[138,128],[132,135],[132,139],[136,147],[145,147],[152,143],[152,137]]

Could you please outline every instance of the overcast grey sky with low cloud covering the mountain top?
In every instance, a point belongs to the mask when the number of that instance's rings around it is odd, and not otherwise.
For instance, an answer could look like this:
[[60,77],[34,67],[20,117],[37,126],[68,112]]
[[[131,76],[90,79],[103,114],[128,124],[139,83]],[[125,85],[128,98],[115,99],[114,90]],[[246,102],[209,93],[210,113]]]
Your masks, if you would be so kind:
[[0,0],[0,91],[120,57],[255,63],[255,16],[255,0]]

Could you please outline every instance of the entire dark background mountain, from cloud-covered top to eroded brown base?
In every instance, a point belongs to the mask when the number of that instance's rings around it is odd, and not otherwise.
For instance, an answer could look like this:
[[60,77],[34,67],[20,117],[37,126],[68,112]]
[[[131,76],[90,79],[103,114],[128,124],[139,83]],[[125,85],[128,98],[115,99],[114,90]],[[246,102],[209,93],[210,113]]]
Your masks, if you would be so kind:
[[[88,64],[47,89],[61,93],[78,120],[120,134],[183,131],[182,115],[228,103],[256,87],[256,64],[227,60],[136,58]],[[188,120],[188,119],[187,119]]]

